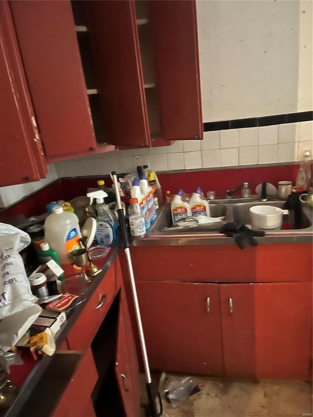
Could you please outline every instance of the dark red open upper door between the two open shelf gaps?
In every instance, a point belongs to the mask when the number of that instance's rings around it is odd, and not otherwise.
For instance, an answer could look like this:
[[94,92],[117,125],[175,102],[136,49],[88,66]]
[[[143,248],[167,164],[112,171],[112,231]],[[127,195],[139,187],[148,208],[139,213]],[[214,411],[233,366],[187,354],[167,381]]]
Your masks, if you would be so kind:
[[150,145],[134,0],[87,1],[106,140]]

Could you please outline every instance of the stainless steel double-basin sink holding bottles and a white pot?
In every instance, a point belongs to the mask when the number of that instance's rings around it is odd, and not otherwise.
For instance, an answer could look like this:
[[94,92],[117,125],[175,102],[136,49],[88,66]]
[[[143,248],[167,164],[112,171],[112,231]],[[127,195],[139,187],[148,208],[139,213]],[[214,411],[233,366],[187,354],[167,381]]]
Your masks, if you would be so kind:
[[[250,224],[249,208],[254,205],[274,205],[283,208],[284,201],[271,199],[268,201],[261,201],[258,196],[251,198],[230,198],[230,199],[216,199],[209,200],[211,217],[224,217],[223,222],[216,222],[211,224],[202,224],[196,227],[175,227],[172,223],[171,209],[168,204],[163,205],[158,210],[158,216],[154,224],[151,226],[148,236],[173,236],[173,235],[216,235],[222,225],[229,221],[240,221],[247,225]],[[308,206],[303,206],[302,224],[299,228],[293,228],[293,212],[290,215],[284,216],[283,222],[289,223],[288,230],[279,230],[279,233],[312,233],[312,210]],[[271,233],[272,231],[267,230]],[[277,232],[275,230],[275,232]]]

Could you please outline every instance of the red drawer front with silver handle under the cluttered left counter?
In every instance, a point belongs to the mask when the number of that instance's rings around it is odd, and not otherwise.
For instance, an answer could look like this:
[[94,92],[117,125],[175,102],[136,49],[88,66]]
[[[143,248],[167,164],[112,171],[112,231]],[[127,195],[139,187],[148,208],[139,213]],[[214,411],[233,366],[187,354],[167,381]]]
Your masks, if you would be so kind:
[[99,329],[115,295],[114,265],[111,266],[70,330],[70,350],[85,351]]

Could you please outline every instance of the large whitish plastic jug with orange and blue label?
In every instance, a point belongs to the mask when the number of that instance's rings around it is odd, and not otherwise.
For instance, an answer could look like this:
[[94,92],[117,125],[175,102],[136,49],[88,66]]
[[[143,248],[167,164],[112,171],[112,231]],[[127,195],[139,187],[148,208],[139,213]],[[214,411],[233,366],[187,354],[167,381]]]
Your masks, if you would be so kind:
[[45,219],[45,241],[53,248],[61,265],[71,263],[68,253],[79,249],[81,233],[76,214],[54,207],[53,213]]

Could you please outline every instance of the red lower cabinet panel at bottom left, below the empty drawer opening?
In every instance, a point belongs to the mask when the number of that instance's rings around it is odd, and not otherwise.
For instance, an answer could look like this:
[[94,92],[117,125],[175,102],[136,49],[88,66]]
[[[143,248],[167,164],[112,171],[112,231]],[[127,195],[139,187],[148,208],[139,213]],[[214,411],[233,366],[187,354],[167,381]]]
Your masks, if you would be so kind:
[[98,373],[91,349],[88,348],[76,372],[70,379],[52,417],[93,417],[95,416],[91,393],[98,379]]

